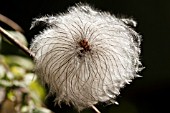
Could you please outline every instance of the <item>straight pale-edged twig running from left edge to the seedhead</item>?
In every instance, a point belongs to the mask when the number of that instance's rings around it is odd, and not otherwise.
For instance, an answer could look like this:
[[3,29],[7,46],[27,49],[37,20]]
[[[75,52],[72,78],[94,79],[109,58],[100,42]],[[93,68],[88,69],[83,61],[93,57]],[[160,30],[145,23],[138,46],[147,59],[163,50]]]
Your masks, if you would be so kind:
[[9,34],[5,29],[0,27],[0,33],[6,37],[8,41],[10,41],[15,46],[19,47],[22,51],[24,51],[26,54],[30,55],[32,58],[34,58],[34,55],[29,51],[29,49],[22,45],[16,38],[14,38],[11,34]]

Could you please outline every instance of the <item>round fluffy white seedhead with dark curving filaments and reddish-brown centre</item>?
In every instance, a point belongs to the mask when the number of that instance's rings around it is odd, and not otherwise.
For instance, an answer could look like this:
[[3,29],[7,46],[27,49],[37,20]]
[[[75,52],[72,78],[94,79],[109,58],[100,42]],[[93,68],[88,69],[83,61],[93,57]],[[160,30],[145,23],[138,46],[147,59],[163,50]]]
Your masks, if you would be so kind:
[[67,13],[36,19],[32,28],[48,27],[35,36],[30,50],[35,55],[35,73],[55,94],[55,102],[78,110],[98,102],[115,103],[120,88],[138,77],[141,37],[120,19],[88,5]]

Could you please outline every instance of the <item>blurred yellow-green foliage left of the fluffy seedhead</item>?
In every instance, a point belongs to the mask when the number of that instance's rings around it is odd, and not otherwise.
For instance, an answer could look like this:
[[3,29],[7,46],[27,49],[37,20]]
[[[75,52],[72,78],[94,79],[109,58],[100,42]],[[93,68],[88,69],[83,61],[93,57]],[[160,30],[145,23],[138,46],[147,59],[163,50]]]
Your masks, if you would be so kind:
[[[8,32],[28,45],[21,33]],[[0,34],[0,113],[51,113],[43,104],[45,90],[33,68],[32,59]]]

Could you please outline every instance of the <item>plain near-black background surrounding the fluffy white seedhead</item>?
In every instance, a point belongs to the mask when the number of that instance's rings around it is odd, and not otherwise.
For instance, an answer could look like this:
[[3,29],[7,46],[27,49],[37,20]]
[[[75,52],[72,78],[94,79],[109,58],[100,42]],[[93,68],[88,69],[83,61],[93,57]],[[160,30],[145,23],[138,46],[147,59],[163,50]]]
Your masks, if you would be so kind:
[[[80,0],[79,0],[80,1]],[[18,23],[27,40],[31,21],[45,14],[65,12],[78,0],[1,0],[0,13]],[[121,90],[120,105],[99,104],[102,113],[167,113],[170,101],[170,1],[169,0],[81,0],[117,16],[133,17],[143,36],[141,60],[146,67],[141,75]],[[57,113],[75,112],[72,108],[52,107]],[[84,110],[83,113],[92,113]]]

